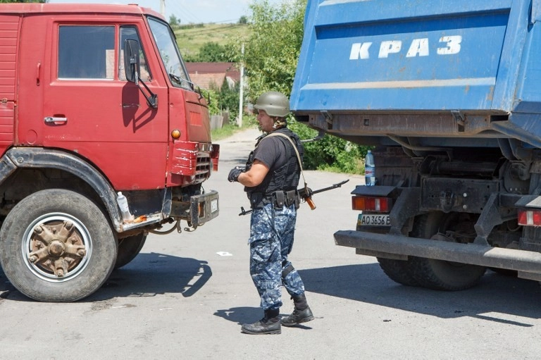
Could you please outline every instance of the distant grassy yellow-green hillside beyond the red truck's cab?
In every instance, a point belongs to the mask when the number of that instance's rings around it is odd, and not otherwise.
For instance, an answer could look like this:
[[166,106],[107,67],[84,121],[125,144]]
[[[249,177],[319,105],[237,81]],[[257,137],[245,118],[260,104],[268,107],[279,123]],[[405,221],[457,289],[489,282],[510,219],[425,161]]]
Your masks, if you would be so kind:
[[182,56],[198,54],[199,48],[206,42],[223,45],[233,39],[246,39],[248,33],[246,24],[191,24],[175,28]]

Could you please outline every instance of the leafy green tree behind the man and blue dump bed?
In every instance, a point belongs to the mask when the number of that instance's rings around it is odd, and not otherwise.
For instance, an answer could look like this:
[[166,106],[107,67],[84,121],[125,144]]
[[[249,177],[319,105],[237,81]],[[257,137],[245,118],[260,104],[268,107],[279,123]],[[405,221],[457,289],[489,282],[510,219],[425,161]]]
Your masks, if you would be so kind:
[[[244,63],[247,76],[247,97],[254,101],[269,90],[291,94],[297,61],[304,35],[304,11],[306,0],[282,1],[271,6],[268,0],[255,0],[251,9],[251,32],[246,42]],[[237,44],[240,49],[240,44]],[[316,135],[306,125],[288,120],[290,128],[301,138]],[[347,173],[360,172],[359,160],[366,149],[338,137],[325,136],[321,141],[306,143],[304,166],[306,169],[339,170]]]

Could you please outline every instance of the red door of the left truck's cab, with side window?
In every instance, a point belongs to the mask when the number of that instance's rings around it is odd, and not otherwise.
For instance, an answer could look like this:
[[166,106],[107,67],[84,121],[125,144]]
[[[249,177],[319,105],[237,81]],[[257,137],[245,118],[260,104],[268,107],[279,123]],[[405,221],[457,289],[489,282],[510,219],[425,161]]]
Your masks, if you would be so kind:
[[[39,70],[44,101],[38,137],[45,147],[75,151],[94,163],[117,190],[163,188],[168,89],[142,20],[76,20],[56,18],[51,27],[50,57]],[[158,95],[158,108],[125,80],[122,44],[128,38],[140,42],[140,77]]]

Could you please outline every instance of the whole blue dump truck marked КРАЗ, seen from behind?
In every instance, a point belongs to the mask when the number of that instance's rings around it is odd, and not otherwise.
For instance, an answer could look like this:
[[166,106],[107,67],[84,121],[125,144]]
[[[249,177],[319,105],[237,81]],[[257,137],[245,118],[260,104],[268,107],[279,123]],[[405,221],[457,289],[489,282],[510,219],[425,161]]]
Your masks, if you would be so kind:
[[541,280],[541,0],[309,0],[291,108],[373,146],[337,245],[404,285]]

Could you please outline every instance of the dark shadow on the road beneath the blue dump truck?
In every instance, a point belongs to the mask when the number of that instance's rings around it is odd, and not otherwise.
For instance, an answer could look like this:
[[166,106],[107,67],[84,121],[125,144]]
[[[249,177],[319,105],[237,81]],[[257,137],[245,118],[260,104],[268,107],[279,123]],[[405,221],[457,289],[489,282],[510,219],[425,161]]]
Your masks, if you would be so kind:
[[473,316],[502,321],[486,315],[492,312],[541,318],[541,287],[537,282],[492,271],[487,271],[476,287],[456,292],[399,285],[387,278],[377,263],[300,270],[299,274],[308,292],[440,318]]

